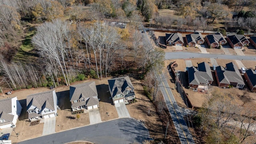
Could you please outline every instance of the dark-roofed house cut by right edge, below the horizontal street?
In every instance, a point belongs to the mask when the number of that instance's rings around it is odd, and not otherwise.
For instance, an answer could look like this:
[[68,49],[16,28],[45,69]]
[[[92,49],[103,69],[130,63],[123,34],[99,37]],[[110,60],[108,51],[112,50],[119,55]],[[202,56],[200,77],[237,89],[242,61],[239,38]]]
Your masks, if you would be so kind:
[[250,88],[250,91],[256,92],[256,69],[246,70],[244,74],[244,78]]

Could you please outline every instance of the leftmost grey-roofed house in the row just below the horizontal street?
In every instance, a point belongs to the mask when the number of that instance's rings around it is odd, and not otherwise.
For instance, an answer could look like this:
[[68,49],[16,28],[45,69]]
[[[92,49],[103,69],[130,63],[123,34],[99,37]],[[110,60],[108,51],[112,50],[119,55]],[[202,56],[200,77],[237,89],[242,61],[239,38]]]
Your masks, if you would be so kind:
[[206,62],[198,64],[197,69],[194,66],[188,68],[188,82],[190,87],[207,86],[208,84],[212,84],[212,81],[212,71]]

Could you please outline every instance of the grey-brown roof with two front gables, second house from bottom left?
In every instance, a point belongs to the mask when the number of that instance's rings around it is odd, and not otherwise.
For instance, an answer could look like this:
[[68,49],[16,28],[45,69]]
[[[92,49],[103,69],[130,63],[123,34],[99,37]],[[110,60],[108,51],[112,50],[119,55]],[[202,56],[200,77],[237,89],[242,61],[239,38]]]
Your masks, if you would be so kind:
[[38,109],[43,110],[44,108],[48,108],[50,110],[54,110],[54,99],[53,93],[55,90],[51,90],[48,92],[40,92],[37,94],[30,94],[27,96],[27,110],[30,106],[36,106]]

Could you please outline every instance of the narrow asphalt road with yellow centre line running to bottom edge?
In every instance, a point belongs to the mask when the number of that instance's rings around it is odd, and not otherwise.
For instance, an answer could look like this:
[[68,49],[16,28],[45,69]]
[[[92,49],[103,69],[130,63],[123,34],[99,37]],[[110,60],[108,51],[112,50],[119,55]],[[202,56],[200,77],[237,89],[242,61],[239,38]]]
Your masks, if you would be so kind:
[[169,109],[169,112],[172,116],[172,121],[180,138],[180,142],[182,144],[194,144],[194,140],[186,122],[180,112],[178,104],[172,95],[172,91],[166,81],[164,74],[161,74],[162,83],[160,84],[160,89],[164,95],[164,100],[166,101],[166,105]]

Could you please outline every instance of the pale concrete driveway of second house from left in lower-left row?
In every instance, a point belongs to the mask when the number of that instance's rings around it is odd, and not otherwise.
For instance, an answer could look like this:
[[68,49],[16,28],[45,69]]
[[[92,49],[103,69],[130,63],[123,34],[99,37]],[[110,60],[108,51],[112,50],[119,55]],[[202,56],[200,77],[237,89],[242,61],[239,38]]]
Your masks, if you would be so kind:
[[42,135],[48,135],[55,133],[56,117],[44,119],[44,129]]

